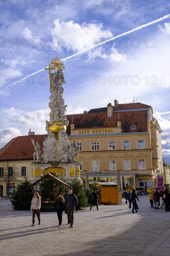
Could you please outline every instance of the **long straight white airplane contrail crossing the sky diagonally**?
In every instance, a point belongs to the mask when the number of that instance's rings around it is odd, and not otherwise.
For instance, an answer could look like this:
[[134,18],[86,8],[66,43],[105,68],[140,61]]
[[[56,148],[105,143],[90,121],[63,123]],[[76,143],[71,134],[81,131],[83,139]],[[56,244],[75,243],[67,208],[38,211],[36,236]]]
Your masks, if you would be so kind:
[[[102,45],[102,44],[105,44],[105,43],[107,43],[107,42],[110,42],[111,40],[117,39],[117,38],[119,38],[119,37],[121,37],[121,36],[123,36],[123,35],[131,34],[131,33],[133,33],[134,31],[137,31],[137,30],[139,30],[139,29],[141,29],[141,28],[143,28],[143,27],[148,27],[148,26],[150,26],[150,25],[152,25],[152,24],[155,24],[155,23],[157,23],[157,22],[159,22],[159,21],[165,20],[165,19],[167,19],[167,18],[169,18],[169,17],[170,17],[170,14],[164,15],[163,17],[161,17],[161,18],[159,18],[159,19],[157,19],[157,20],[153,20],[153,21],[150,21],[150,22],[148,22],[148,23],[146,23],[146,24],[144,24],[144,25],[141,25],[141,26],[139,26],[139,27],[133,28],[133,29],[127,31],[127,32],[124,32],[124,33],[119,34],[119,35],[117,35],[117,36],[114,36],[114,37],[112,37],[112,38],[110,38],[110,39],[108,39],[108,40],[105,40],[104,42],[102,41],[101,43],[96,44],[95,47],[98,47],[99,45]],[[68,57],[66,57],[66,58],[64,58],[64,59],[62,59],[61,61],[66,61],[66,60],[72,59],[72,58],[75,57],[75,56],[78,56],[78,55],[83,54],[83,53],[85,53],[85,52],[87,52],[87,51],[89,51],[89,50],[92,50],[93,48],[94,48],[94,46],[89,47],[89,48],[87,48],[87,49],[85,49],[85,50],[83,50],[83,51],[78,52],[77,54],[72,54],[72,55],[70,55],[70,56],[68,56]],[[47,66],[47,67],[48,67],[48,66]],[[47,68],[47,67],[46,67],[46,68]],[[39,73],[39,72],[41,72],[41,71],[43,71],[43,70],[44,70],[44,68],[42,68],[42,69],[40,69],[40,70],[38,70],[38,71],[36,71],[36,72],[34,72],[34,73],[32,73],[32,74],[29,74],[28,76],[26,76],[26,78],[23,78],[22,81],[24,81],[24,80],[27,79],[28,77],[30,77],[30,76],[32,76],[32,75],[34,75],[34,74],[37,74],[37,73]],[[12,85],[14,85],[14,84],[16,84],[16,82],[13,83]],[[8,87],[10,87],[10,86],[12,86],[12,85],[9,85]],[[8,87],[7,87],[7,88],[8,88]]]

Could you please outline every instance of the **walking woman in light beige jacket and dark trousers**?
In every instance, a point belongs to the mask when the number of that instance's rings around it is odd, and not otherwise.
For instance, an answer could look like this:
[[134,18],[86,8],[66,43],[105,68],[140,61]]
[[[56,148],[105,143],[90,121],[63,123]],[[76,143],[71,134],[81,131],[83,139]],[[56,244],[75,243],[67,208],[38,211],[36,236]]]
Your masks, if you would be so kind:
[[39,225],[40,225],[40,212],[39,212],[40,208],[41,208],[41,197],[39,195],[39,192],[35,192],[31,202],[31,211],[33,213],[33,224],[31,225],[32,227],[34,226],[34,222],[35,222],[35,214],[37,215]]

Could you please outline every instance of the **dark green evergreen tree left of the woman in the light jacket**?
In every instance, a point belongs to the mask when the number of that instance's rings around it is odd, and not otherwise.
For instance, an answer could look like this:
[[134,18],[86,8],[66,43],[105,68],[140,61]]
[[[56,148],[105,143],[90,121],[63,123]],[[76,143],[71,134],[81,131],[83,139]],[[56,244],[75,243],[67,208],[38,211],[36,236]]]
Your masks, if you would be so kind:
[[14,210],[29,210],[31,206],[31,201],[33,198],[33,192],[31,189],[26,190],[31,182],[27,180],[21,182],[16,190],[15,194],[11,197],[11,203]]

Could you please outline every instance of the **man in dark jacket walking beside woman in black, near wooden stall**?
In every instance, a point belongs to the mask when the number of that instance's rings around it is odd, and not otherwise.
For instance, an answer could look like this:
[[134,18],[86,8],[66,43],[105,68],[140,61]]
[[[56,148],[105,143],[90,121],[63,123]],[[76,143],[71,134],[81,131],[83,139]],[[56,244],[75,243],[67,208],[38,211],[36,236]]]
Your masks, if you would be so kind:
[[65,197],[65,207],[68,212],[69,220],[70,220],[70,228],[73,228],[74,221],[74,210],[76,205],[78,204],[78,199],[76,195],[72,194],[72,189],[68,190],[68,195]]

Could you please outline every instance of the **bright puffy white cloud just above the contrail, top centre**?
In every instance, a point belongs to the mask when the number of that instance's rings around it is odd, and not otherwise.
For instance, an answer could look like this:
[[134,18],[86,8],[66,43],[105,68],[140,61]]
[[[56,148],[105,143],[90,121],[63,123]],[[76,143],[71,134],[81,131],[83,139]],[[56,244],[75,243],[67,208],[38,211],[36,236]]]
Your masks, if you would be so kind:
[[103,30],[102,23],[86,23],[82,25],[74,23],[72,20],[68,22],[59,22],[54,20],[51,29],[52,38],[62,38],[68,50],[83,51],[89,47],[93,47],[96,40],[108,39],[112,36],[109,29]]

